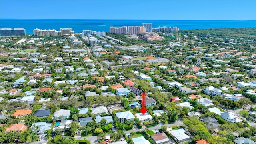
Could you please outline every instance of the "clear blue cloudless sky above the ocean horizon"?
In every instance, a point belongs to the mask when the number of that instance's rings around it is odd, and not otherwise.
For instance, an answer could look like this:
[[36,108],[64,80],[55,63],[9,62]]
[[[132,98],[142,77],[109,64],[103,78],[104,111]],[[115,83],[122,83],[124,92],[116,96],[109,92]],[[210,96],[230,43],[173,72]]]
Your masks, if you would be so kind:
[[256,0],[0,0],[0,18],[256,20]]

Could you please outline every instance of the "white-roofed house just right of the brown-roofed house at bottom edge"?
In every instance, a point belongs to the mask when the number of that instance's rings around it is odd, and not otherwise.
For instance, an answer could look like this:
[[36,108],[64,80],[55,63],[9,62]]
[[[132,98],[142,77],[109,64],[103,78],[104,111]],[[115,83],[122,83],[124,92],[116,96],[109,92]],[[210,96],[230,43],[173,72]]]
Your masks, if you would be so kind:
[[190,136],[186,134],[186,130],[184,130],[183,128],[180,128],[178,130],[171,130],[169,132],[179,143],[191,141]]

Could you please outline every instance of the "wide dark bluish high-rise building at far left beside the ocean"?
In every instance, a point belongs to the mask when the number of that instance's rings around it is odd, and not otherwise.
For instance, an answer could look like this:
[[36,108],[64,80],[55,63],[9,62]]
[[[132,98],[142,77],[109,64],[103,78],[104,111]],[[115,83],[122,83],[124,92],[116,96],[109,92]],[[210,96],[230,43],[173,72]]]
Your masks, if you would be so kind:
[[1,28],[0,29],[1,36],[25,36],[26,31],[24,28]]

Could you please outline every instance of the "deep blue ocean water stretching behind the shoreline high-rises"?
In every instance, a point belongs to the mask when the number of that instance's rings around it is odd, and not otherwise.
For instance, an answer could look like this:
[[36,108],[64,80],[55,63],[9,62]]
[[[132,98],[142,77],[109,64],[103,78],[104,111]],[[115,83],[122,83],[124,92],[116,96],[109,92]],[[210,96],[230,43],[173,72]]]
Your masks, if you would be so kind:
[[110,26],[141,26],[142,23],[152,23],[158,26],[178,27],[180,30],[206,28],[248,28],[256,27],[256,20],[20,20],[0,19],[0,28],[25,28],[27,34],[32,34],[35,28],[55,29],[72,28],[75,33],[82,30],[109,32]]

